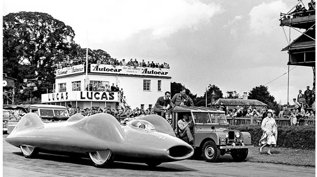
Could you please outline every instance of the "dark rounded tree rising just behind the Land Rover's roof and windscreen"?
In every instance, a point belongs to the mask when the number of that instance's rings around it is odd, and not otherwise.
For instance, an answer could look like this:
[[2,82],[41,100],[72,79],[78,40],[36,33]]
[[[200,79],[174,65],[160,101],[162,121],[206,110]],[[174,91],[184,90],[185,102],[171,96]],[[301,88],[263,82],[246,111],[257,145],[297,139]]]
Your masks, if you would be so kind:
[[[214,92],[214,101],[216,101],[219,98],[223,98],[223,92],[219,89],[218,86],[216,85],[208,85],[207,88],[207,105],[211,103],[211,94]],[[202,97],[197,97],[194,100],[194,105],[195,106],[206,106],[206,92],[204,93],[204,96]]]

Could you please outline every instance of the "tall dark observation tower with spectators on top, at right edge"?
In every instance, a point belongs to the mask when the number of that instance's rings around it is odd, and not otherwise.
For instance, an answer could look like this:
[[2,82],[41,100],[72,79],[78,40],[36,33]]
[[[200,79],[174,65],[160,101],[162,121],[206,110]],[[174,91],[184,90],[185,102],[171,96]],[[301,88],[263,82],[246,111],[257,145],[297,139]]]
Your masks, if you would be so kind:
[[[302,11],[298,7],[302,5],[307,11]],[[314,5],[313,5],[314,6]],[[296,10],[297,9],[297,10]],[[283,28],[284,34],[288,41],[288,46],[282,51],[288,51],[289,54],[289,71],[290,65],[311,67],[313,72],[313,83],[315,83],[315,10],[308,10],[302,1],[291,9],[288,13],[280,13],[280,26]],[[287,35],[284,27],[289,27],[289,35]],[[298,31],[301,33],[291,42],[291,32]],[[289,74],[289,73],[288,73]],[[290,76],[290,74],[289,74]],[[289,82],[288,82],[289,90]],[[289,91],[288,91],[289,103]]]

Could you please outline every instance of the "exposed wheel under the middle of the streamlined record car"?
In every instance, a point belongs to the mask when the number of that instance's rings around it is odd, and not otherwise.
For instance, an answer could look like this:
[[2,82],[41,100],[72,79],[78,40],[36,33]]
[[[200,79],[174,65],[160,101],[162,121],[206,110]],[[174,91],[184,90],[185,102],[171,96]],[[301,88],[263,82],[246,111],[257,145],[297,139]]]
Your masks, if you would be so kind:
[[113,162],[113,153],[110,149],[88,152],[88,155],[93,165],[96,167],[104,168]]

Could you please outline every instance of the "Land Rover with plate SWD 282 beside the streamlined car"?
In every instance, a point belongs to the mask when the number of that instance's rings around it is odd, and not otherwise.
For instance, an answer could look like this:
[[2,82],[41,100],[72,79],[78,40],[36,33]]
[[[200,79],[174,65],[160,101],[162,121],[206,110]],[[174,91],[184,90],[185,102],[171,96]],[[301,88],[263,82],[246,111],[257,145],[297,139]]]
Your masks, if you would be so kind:
[[[251,144],[251,135],[228,129],[229,123],[225,111],[206,107],[176,106],[173,109],[172,126],[179,137],[177,122],[184,114],[191,115],[193,122],[195,154],[208,162],[216,162],[220,155],[231,154],[235,161],[243,161],[248,155]],[[188,142],[187,138],[181,138]]]

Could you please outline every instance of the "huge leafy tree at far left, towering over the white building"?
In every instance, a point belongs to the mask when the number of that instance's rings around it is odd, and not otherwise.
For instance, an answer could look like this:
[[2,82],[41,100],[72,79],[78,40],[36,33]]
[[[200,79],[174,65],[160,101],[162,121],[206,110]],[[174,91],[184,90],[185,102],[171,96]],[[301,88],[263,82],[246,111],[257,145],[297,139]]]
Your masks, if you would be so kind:
[[52,87],[57,59],[74,50],[74,30],[51,15],[40,12],[10,13],[3,18],[4,73],[17,79],[41,76],[43,84],[34,93],[41,98]]

